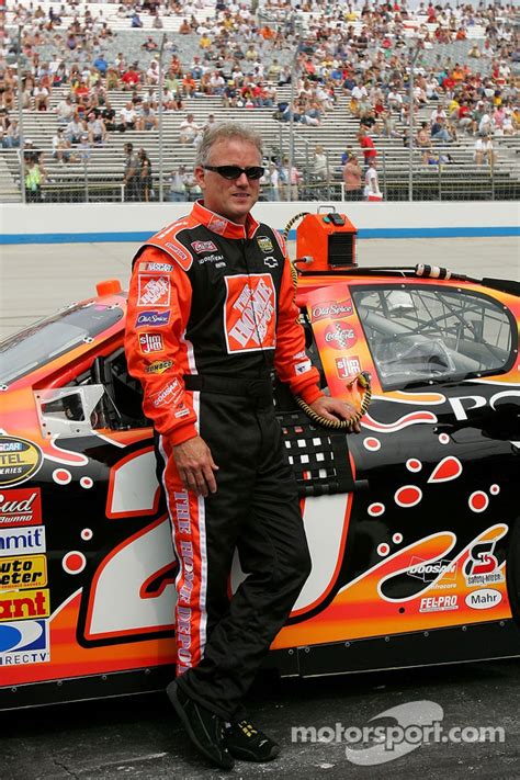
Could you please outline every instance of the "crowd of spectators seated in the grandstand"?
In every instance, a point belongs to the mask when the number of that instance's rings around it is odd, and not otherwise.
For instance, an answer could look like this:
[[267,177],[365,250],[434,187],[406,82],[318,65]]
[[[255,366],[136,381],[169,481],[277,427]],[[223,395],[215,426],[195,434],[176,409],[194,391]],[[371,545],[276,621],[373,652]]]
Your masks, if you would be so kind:
[[[127,19],[128,27],[142,26],[145,14],[152,18],[155,29],[162,26],[167,15],[179,16],[179,31],[167,36],[161,94],[154,36],[140,44],[146,65],[139,59],[127,61],[117,52],[116,34],[101,8],[95,12],[91,4],[80,12],[76,1],[56,8],[45,12],[33,3],[18,4],[10,22],[23,25],[22,105],[55,114],[53,157],[60,165],[88,159],[92,147],[104,145],[112,133],[157,131],[159,106],[165,112],[183,112],[179,143],[196,146],[204,127],[215,121],[208,116],[197,124],[189,111],[192,101],[204,95],[221,97],[223,108],[271,108],[275,120],[292,120],[302,126],[319,126],[340,110],[338,98],[343,95],[348,114],[359,122],[358,140],[366,171],[376,159],[374,140],[378,137],[402,137],[405,145],[410,143],[406,129],[410,46],[418,48],[411,101],[417,121],[411,143],[420,149],[425,163],[431,163],[436,155],[439,159],[436,147],[452,145],[466,135],[475,137],[477,165],[493,161],[495,152],[488,148],[493,137],[520,132],[513,72],[520,55],[513,4],[454,8],[449,2],[421,2],[411,12],[398,0],[332,4],[304,0],[296,8],[284,0],[268,0],[257,18],[246,3],[217,2],[214,15],[201,22],[202,0],[185,4],[128,0],[114,7],[114,15]],[[4,22],[5,12],[0,15]],[[448,52],[444,44],[466,39],[475,25],[484,35],[472,41],[464,61],[443,53],[443,48]],[[195,39],[196,54],[190,63],[181,63],[176,41],[188,35]],[[41,59],[42,45],[54,47],[52,59]],[[289,59],[282,56],[287,52]],[[430,52],[434,56],[428,58]],[[14,117],[18,72],[9,64],[9,56],[15,54],[15,35],[4,32],[0,49],[3,148],[22,143]],[[294,100],[279,100],[279,90],[292,81]],[[56,104],[52,98],[57,89],[65,97]],[[117,90],[126,92],[127,100],[115,110],[111,93]],[[430,113],[427,121],[425,111]],[[477,148],[479,140],[486,142],[484,149]],[[145,168],[147,165],[144,178],[150,180],[149,160],[145,160]],[[312,166],[308,172],[316,181],[330,178],[323,147],[316,148]],[[177,170],[172,177],[185,173]],[[271,162],[267,191],[282,194],[284,185],[297,191],[298,176],[299,171],[284,176],[283,160]],[[150,197],[151,186],[147,193]]]

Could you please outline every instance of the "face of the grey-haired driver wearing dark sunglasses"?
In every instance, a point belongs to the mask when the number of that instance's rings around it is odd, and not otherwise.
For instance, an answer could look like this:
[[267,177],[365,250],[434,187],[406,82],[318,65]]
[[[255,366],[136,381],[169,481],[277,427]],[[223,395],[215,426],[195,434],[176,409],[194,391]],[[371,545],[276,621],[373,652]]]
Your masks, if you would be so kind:
[[[241,138],[217,142],[210,155],[211,166],[239,166],[249,168],[261,165],[257,147]],[[204,205],[230,222],[244,225],[246,217],[260,193],[260,181],[251,180],[242,173],[229,181],[216,171],[207,171],[197,166],[195,179],[204,195]]]

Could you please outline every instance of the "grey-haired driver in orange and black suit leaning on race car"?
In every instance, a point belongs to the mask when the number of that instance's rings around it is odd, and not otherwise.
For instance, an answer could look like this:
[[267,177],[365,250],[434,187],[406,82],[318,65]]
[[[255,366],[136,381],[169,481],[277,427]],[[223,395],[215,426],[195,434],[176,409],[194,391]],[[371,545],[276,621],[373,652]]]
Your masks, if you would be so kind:
[[[137,252],[125,339],[158,436],[179,562],[168,694],[199,749],[226,769],[233,757],[280,751],[241,702],[310,569],[272,369],[316,412],[354,415],[321,394],[284,241],[249,213],[261,159],[247,127],[205,133],[195,167],[204,201]],[[247,576],[230,596],[235,550]]]

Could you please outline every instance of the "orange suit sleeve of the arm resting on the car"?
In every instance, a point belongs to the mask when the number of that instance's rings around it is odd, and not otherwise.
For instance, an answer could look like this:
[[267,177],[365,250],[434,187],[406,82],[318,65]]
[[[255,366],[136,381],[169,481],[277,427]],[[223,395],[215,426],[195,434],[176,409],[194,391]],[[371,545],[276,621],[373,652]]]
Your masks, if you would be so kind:
[[274,368],[282,382],[286,382],[294,395],[312,404],[324,395],[319,389],[319,373],[305,352],[305,332],[299,323],[295,303],[295,290],[291,276],[291,261],[284,251],[284,269],[280,287],[276,324]]

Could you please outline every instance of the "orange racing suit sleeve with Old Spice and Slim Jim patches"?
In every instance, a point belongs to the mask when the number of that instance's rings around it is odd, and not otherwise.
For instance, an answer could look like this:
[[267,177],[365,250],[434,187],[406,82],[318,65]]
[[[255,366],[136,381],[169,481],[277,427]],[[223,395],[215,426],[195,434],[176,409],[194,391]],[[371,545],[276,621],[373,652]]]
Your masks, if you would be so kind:
[[[152,272],[146,270],[150,265]],[[125,352],[128,372],[143,385],[144,414],[173,444],[197,436],[192,394],[183,378],[189,373],[183,335],[191,296],[188,274],[160,249],[147,247],[128,290]]]

